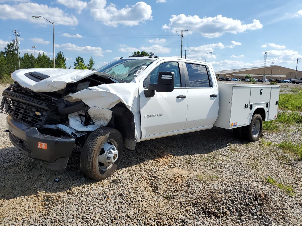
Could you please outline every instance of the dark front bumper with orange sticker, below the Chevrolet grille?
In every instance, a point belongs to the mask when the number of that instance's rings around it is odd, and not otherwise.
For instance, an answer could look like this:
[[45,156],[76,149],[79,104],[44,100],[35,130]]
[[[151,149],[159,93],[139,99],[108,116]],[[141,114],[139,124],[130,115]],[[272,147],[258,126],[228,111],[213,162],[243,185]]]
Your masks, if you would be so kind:
[[6,118],[11,143],[25,155],[36,159],[44,167],[65,170],[75,139],[59,138],[39,133],[11,116]]

